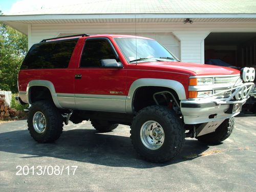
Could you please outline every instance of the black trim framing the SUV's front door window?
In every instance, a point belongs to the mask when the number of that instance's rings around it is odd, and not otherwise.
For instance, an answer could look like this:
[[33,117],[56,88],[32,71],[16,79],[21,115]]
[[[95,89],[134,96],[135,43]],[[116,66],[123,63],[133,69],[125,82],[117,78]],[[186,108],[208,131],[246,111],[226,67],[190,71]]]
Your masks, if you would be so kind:
[[102,69],[102,68],[103,68],[103,69],[106,69],[106,68],[104,68],[104,67],[81,67],[83,50],[84,50],[84,48],[86,47],[86,41],[88,41],[88,40],[90,40],[90,39],[92,39],[92,40],[94,40],[94,39],[96,39],[96,40],[98,40],[98,39],[103,39],[103,40],[107,41],[107,42],[109,43],[111,49],[112,49],[112,52],[113,52],[114,55],[116,56],[116,61],[119,62],[119,63],[121,64],[121,66],[123,67],[122,62],[121,62],[120,59],[119,59],[118,53],[116,52],[116,49],[114,48],[114,46],[113,46],[113,44],[112,44],[112,42],[111,42],[111,40],[110,40],[109,38],[107,38],[107,37],[88,37],[88,38],[86,38],[86,40],[84,41],[84,45],[83,45],[83,48],[82,48],[81,57],[80,57],[80,62],[79,62],[79,69],[85,69],[85,68],[86,68],[86,69],[89,69],[89,68],[92,68],[92,69]]

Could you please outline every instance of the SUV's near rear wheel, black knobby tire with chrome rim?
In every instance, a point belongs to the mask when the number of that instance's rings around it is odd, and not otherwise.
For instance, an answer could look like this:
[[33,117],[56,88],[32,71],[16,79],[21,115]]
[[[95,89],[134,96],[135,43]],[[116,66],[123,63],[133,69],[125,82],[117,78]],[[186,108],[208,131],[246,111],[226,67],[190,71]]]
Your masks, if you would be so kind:
[[37,101],[32,104],[28,115],[28,130],[39,143],[57,140],[63,127],[63,119],[56,106],[49,101]]

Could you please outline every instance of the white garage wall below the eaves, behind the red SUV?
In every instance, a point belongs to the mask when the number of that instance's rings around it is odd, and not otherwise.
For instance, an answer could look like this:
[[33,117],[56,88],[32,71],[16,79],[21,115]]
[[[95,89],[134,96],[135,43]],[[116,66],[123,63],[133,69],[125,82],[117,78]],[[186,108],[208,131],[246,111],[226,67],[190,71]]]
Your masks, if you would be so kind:
[[254,23],[76,23],[28,25],[29,47],[63,34],[132,34],[158,40],[181,61],[204,62],[204,38],[210,32],[256,32]]

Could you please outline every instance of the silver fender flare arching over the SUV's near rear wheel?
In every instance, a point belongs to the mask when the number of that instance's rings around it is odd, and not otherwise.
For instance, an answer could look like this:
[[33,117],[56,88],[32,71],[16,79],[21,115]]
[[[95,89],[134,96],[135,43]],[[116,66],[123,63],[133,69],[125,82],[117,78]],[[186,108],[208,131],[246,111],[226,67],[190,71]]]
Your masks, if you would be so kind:
[[46,87],[49,89],[51,95],[52,95],[52,100],[55,104],[55,106],[57,108],[62,109],[62,107],[60,106],[58,99],[57,99],[57,94],[54,88],[54,85],[51,81],[48,80],[32,80],[29,81],[28,86],[27,86],[27,93],[26,93],[26,97],[27,97],[27,101],[29,102],[29,104],[31,104],[31,99],[30,99],[30,88],[34,87],[34,86],[42,86],[42,87]]

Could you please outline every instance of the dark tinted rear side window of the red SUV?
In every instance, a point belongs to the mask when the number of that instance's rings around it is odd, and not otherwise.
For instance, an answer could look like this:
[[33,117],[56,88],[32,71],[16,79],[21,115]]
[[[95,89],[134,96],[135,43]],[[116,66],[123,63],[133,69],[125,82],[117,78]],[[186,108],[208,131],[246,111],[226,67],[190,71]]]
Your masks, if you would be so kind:
[[35,44],[20,69],[67,68],[78,38]]

